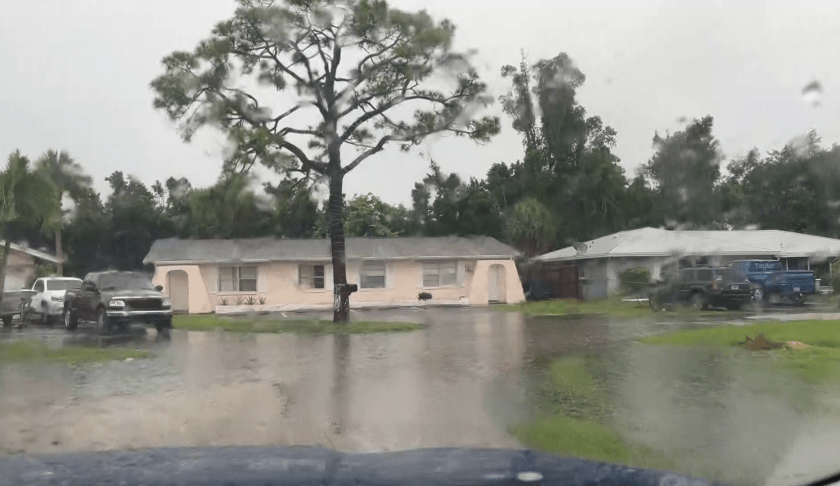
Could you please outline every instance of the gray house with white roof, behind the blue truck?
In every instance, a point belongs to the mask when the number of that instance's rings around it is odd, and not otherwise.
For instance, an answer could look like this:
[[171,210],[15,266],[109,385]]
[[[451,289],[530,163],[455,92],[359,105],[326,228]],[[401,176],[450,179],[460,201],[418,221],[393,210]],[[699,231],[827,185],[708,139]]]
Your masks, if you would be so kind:
[[[635,267],[658,276],[669,267],[723,265],[741,259],[779,259],[793,269],[826,265],[840,255],[840,240],[790,231],[670,231],[640,228],[540,255],[535,262],[576,266],[584,299],[619,289],[619,274]],[[830,267],[829,267],[830,268]]]

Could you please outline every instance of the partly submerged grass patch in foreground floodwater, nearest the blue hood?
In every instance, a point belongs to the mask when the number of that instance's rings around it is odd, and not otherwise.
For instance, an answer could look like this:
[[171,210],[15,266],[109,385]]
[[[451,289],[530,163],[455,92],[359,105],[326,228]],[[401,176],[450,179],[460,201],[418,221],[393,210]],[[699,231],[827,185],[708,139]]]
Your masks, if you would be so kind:
[[623,440],[609,426],[607,397],[583,358],[563,358],[548,369],[539,390],[543,416],[512,427],[528,447],[582,459],[673,469],[648,448]]

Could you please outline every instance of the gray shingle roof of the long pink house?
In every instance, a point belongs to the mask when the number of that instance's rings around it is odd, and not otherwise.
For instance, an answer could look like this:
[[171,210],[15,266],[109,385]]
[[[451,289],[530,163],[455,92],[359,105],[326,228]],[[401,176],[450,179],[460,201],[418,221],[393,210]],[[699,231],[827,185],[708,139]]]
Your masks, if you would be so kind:
[[[349,260],[478,258],[509,259],[519,255],[489,236],[439,238],[347,238]],[[238,263],[267,261],[327,261],[328,239],[253,238],[231,240],[155,241],[143,263]]]

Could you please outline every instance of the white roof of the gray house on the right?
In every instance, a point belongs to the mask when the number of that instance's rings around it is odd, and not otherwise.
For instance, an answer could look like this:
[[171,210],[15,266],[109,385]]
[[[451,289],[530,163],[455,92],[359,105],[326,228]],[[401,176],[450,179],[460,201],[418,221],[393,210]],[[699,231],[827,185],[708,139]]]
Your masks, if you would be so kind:
[[669,231],[640,228],[607,235],[585,245],[584,251],[570,246],[540,255],[535,260],[554,262],[676,255],[829,258],[840,255],[838,239],[779,230]]

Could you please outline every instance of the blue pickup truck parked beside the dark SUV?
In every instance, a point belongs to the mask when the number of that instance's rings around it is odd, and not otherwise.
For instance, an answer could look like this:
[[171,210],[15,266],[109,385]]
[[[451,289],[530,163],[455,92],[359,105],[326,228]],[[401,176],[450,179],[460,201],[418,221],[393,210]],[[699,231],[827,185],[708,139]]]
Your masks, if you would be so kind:
[[817,291],[814,272],[785,270],[778,260],[738,260],[726,266],[747,277],[756,304],[783,301],[802,304],[808,295]]

